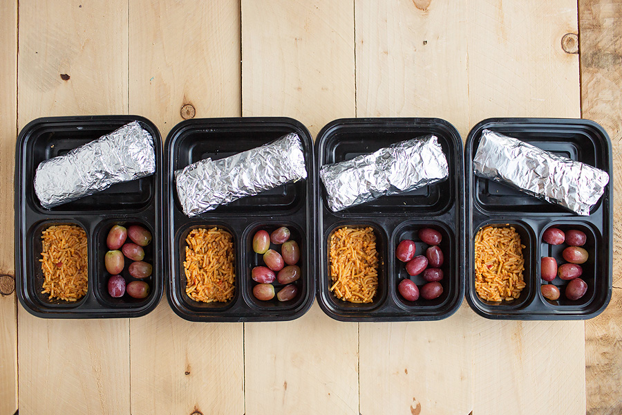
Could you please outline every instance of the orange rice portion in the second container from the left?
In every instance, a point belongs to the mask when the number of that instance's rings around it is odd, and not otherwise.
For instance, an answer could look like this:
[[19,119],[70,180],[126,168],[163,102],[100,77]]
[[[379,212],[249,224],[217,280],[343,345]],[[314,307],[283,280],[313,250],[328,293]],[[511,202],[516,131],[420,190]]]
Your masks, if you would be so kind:
[[193,229],[186,238],[186,294],[200,302],[227,302],[235,293],[235,252],[231,234]]

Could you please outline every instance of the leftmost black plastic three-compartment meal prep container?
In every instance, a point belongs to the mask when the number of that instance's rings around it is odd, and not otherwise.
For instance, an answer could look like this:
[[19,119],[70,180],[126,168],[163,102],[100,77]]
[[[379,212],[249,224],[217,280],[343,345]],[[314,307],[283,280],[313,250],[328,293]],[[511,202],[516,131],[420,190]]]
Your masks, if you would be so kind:
[[[156,149],[156,174],[112,185],[103,192],[77,201],[45,209],[35,195],[35,171],[41,161],[62,156],[132,121],[140,122],[153,137]],[[156,126],[139,116],[72,116],[38,118],[23,127],[15,151],[15,279],[17,297],[30,313],[38,317],[100,318],[138,317],[153,310],[162,297],[161,248],[161,172],[162,138]],[[50,301],[41,294],[43,273],[41,232],[50,225],[81,226],[88,241],[88,291],[77,302]],[[153,266],[149,295],[135,299],[124,294],[113,298],[108,293],[104,255],[106,237],[115,224],[143,225],[152,235],[145,247],[144,261]],[[129,239],[128,239],[129,240]],[[125,260],[122,271],[126,282],[134,281]]]

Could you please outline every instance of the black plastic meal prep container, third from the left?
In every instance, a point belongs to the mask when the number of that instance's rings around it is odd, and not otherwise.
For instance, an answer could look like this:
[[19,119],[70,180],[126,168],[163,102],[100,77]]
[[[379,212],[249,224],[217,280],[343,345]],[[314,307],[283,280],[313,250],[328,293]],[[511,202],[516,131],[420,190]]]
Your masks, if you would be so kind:
[[[382,196],[375,201],[332,212],[321,184],[322,165],[350,160],[373,153],[382,147],[411,138],[434,134],[449,164],[449,178],[404,194]],[[462,304],[464,296],[464,176],[460,133],[438,118],[351,118],[334,120],[320,131],[316,140],[318,158],[317,235],[319,241],[317,299],[330,317],[347,322],[397,322],[441,320]],[[380,257],[378,291],[373,302],[354,304],[335,297],[330,291],[328,244],[334,230],[343,226],[370,226],[377,237]],[[410,277],[405,264],[395,257],[399,241],[411,239],[417,245],[415,255],[424,255],[426,245],[418,230],[434,228],[442,234],[444,254],[443,293],[437,299],[420,297],[408,302],[397,292],[397,284],[411,278],[419,288],[422,275]]]

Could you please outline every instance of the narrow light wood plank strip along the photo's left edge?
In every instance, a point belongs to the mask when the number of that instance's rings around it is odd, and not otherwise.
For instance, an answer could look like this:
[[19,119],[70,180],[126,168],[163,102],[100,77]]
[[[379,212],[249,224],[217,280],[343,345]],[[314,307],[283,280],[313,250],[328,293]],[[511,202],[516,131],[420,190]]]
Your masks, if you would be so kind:
[[[17,135],[17,1],[0,3],[0,275],[15,275],[13,168]],[[1,277],[0,277],[1,278]],[[17,410],[17,297],[15,279],[0,289],[0,414]],[[0,285],[2,283],[0,282]],[[3,295],[2,293],[10,293]]]

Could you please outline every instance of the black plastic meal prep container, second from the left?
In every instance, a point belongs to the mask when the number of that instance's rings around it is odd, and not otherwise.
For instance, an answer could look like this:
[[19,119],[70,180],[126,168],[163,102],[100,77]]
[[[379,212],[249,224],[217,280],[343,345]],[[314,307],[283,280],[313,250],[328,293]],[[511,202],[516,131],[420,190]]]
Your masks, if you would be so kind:
[[[256,196],[238,199],[203,214],[189,218],[182,211],[175,186],[174,172],[198,160],[218,160],[272,142],[288,133],[297,133],[303,144],[308,177],[281,185]],[[173,311],[196,322],[266,322],[294,320],[313,304],[315,292],[314,234],[314,154],[309,131],[291,118],[205,118],[182,121],[167,138],[165,200],[167,201],[166,252],[168,298]],[[185,291],[185,239],[194,228],[218,228],[233,235],[236,268],[236,293],[226,303],[202,303]],[[287,226],[299,243],[301,278],[294,282],[298,294],[288,302],[276,299],[259,301],[252,293],[257,284],[251,278],[254,266],[264,265],[261,255],[253,252],[256,231],[272,232]],[[280,246],[270,248],[281,252]],[[278,292],[282,287],[273,284]]]

